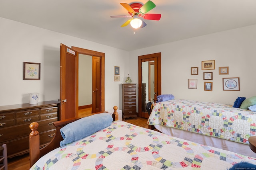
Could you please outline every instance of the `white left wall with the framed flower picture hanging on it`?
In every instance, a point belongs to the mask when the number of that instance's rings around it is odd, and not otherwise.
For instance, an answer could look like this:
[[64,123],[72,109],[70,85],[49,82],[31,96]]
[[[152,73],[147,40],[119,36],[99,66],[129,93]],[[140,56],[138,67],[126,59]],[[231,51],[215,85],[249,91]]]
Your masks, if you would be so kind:
[[[120,84],[128,74],[127,51],[4,18],[0,23],[0,106],[28,103],[31,92],[39,93],[39,102],[58,100],[63,43],[105,53],[105,109],[122,107]],[[24,61],[41,63],[41,80],[23,80]],[[120,82],[114,82],[114,66],[120,66]]]

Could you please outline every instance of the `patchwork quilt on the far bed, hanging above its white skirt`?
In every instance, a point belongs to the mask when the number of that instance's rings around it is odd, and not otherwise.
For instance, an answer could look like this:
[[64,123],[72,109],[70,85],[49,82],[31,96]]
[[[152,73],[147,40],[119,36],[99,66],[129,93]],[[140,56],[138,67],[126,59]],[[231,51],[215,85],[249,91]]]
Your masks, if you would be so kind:
[[249,144],[256,131],[255,113],[226,104],[168,100],[153,105],[148,124]]

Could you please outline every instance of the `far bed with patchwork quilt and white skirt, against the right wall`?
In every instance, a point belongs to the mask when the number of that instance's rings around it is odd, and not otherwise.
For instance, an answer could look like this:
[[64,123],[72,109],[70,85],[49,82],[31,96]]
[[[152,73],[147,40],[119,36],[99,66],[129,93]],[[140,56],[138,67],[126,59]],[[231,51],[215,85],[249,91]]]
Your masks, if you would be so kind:
[[[172,99],[153,104],[148,125],[162,133],[204,145],[255,156],[256,112],[232,105]],[[150,127],[152,129],[152,127]]]

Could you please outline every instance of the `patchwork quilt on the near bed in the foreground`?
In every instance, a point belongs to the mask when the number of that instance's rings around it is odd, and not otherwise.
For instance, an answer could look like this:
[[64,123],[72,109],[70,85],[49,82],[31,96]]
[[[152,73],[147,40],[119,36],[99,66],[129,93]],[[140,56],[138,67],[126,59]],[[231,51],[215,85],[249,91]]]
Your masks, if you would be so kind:
[[114,121],[84,139],[57,148],[31,170],[226,170],[256,158]]

